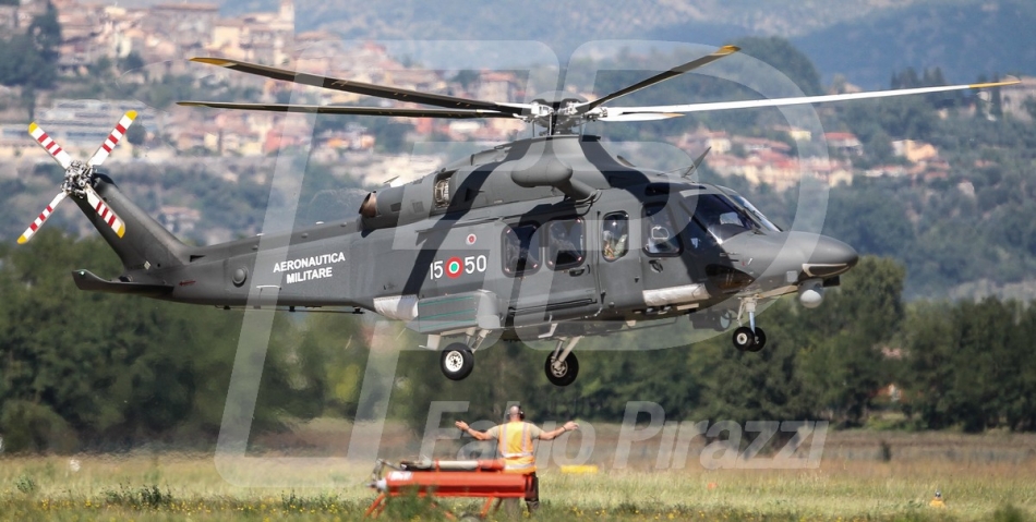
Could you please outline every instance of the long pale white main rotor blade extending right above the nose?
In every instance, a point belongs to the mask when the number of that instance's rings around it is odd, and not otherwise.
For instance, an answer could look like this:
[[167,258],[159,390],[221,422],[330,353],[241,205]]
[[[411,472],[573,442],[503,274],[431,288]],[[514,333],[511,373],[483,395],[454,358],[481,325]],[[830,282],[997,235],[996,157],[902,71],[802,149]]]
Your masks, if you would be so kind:
[[774,98],[774,99],[752,99],[743,101],[716,101],[709,104],[687,104],[687,105],[664,105],[654,107],[609,107],[607,116],[602,117],[600,121],[635,121],[635,117],[643,117],[646,120],[653,119],[656,114],[670,114],[674,112],[702,112],[710,110],[728,109],[755,109],[759,107],[783,107],[791,105],[822,104],[824,101],[847,101],[854,99],[871,98],[891,98],[894,96],[908,96],[916,94],[945,93],[950,90],[965,90],[989,87],[1004,87],[1008,85],[1017,85],[1021,81],[1010,80],[1005,82],[968,84],[968,85],[944,85],[940,87],[918,87],[896,90],[874,90],[869,93],[848,93],[833,94],[823,96],[802,96],[797,98]]

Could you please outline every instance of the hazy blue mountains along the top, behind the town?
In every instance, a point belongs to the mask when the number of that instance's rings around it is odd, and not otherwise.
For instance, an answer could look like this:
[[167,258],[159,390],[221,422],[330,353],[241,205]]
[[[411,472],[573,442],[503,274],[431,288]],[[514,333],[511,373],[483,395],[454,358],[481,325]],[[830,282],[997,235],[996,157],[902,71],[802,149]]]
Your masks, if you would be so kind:
[[[136,0],[146,1],[146,0]],[[277,0],[222,4],[226,14]],[[941,66],[948,80],[1036,74],[1036,3],[1028,0],[297,0],[300,32],[346,39],[533,40],[562,63],[594,40],[722,45],[743,36],[792,39],[826,81],[842,74],[888,86],[893,71]]]

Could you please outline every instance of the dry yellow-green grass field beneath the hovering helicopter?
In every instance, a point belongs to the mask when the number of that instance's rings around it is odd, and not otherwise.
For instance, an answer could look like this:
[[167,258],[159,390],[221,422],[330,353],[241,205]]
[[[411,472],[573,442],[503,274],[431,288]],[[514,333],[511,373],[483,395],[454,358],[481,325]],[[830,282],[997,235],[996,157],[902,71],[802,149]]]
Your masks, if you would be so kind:
[[[569,475],[547,466],[537,518],[1033,520],[1034,444],[1026,436],[832,433],[812,470],[707,470],[695,461],[685,470],[640,462],[613,471],[602,462],[600,473]],[[227,483],[210,454],[7,456],[0,520],[358,520],[374,498],[364,486],[372,466],[301,465],[284,482],[321,486],[256,488]],[[928,506],[936,489],[945,509]],[[441,518],[420,499],[396,500],[384,519]],[[443,503],[458,513],[479,506]]]

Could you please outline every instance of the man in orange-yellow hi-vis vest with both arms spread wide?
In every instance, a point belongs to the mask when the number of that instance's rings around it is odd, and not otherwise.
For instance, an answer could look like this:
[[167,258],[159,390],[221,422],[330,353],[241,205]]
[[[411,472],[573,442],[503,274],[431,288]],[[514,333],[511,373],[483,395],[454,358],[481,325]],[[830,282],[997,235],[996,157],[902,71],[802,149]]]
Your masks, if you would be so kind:
[[479,440],[497,440],[497,451],[504,459],[505,473],[530,475],[526,481],[526,505],[531,513],[540,507],[540,481],[535,476],[535,453],[533,440],[553,440],[565,432],[575,432],[579,425],[568,421],[553,432],[544,432],[535,424],[525,422],[526,412],[521,406],[513,405],[507,410],[507,422],[493,426],[485,432],[471,429],[463,421],[455,424],[461,432]]

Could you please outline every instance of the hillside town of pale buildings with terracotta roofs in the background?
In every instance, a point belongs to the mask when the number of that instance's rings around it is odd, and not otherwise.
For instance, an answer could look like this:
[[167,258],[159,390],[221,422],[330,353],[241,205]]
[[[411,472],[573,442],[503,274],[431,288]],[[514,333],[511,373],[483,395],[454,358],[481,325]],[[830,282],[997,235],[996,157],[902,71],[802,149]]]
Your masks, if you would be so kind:
[[[394,85],[402,88],[449,93],[491,100],[523,100],[530,94],[530,80],[515,71],[477,71],[473,75],[407,66],[375,43],[344,44],[328,32],[296,32],[294,5],[281,0],[275,12],[222,16],[214,3],[159,3],[148,8],[89,3],[80,0],[52,0],[61,26],[59,73],[64,77],[93,74],[97,63],[120,64],[109,69],[120,85],[148,84],[169,75],[193,76],[203,88],[213,92],[232,88],[250,99],[233,101],[284,102],[304,99],[315,104],[361,104],[370,100],[358,95],[308,87],[291,87],[284,82],[194,64],[188,58],[224,57],[299,71],[322,73],[349,80]],[[24,31],[35,16],[48,9],[45,0],[22,0],[17,5],[0,5],[0,31]],[[342,60],[348,57],[348,60]],[[346,63],[348,62],[348,63]],[[344,68],[346,65],[346,68]],[[454,72],[456,73],[456,72]],[[843,89],[852,86],[842,86]],[[16,88],[0,86],[0,99],[17,100]],[[137,120],[146,133],[137,143],[120,147],[112,160],[144,158],[153,162],[173,161],[190,156],[219,158],[262,158],[284,149],[311,150],[311,161],[347,166],[349,173],[368,184],[393,178],[412,179],[434,170],[445,155],[407,154],[382,147],[368,125],[350,123],[314,129],[303,118],[257,111],[201,111],[168,105],[152,107],[135,99],[83,99],[44,96],[34,119],[72,154],[86,157],[110,131],[112,122],[127,110],[137,110]],[[1036,95],[1036,78],[1003,96],[1003,111],[1028,118],[1023,102]],[[583,93],[586,97],[592,97]],[[173,101],[173,100],[170,100]],[[41,150],[25,132],[25,111],[16,102],[0,110],[0,158],[38,161]],[[362,120],[360,120],[362,121]],[[495,144],[521,135],[527,125],[519,120],[485,121],[399,119],[408,125],[407,135],[415,142],[478,142]],[[818,139],[808,131],[793,128],[770,129],[786,139],[750,137],[698,128],[667,139],[687,154],[710,150],[708,166],[723,175],[738,175],[748,182],[766,183],[783,191],[797,186],[803,175],[816,175],[831,185],[852,183],[854,175],[920,177],[947,175],[949,166],[931,144],[909,139],[891,143],[894,165],[855,169],[853,159],[864,154],[863,144],[850,132],[829,132],[829,157],[800,158],[792,145],[797,139]],[[2,175],[2,174],[0,174]]]

